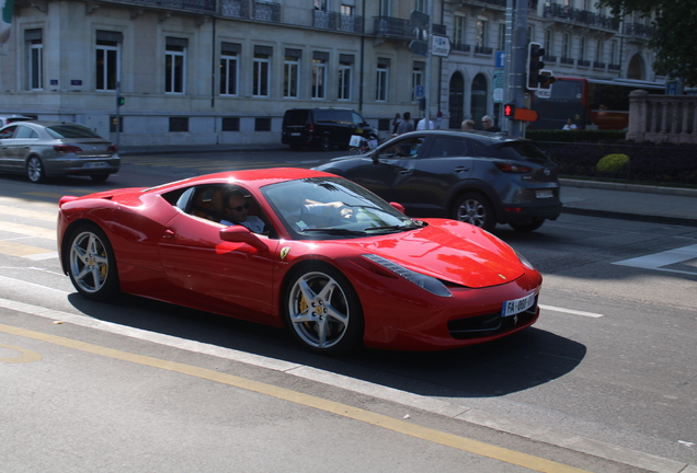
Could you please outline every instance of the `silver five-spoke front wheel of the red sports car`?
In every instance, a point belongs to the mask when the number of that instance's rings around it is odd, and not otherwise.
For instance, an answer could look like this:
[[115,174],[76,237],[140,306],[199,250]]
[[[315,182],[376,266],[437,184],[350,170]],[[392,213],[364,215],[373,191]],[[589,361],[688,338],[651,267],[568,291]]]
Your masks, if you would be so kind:
[[348,280],[329,265],[297,273],[285,291],[286,322],[312,351],[338,354],[363,337],[363,311]]

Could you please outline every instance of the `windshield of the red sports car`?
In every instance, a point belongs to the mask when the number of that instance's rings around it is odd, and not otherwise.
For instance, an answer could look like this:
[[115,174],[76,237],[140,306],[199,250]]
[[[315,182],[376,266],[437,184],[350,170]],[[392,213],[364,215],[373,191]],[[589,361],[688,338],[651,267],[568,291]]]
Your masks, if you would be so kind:
[[311,177],[262,187],[297,240],[333,240],[413,230],[422,226],[341,177]]

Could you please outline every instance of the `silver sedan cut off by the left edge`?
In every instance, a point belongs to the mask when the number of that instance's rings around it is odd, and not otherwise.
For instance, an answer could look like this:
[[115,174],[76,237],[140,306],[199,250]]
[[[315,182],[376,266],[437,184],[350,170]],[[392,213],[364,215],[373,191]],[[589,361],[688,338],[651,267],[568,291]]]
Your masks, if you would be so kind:
[[90,128],[66,122],[21,122],[0,128],[0,172],[46,177],[89,175],[106,181],[121,158],[112,142]]

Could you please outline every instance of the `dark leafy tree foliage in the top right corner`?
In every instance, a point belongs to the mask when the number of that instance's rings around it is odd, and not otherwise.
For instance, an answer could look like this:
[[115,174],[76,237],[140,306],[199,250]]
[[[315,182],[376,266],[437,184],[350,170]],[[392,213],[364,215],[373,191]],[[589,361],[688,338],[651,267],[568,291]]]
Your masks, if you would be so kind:
[[660,76],[681,78],[697,85],[697,0],[599,0],[621,18],[630,13],[644,16],[655,12],[654,35],[649,47],[655,51],[653,70]]

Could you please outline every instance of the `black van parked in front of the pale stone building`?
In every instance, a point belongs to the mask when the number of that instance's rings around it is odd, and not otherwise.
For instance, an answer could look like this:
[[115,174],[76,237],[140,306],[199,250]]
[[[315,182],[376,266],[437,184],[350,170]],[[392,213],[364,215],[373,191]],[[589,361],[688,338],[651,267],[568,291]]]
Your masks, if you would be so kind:
[[352,135],[370,139],[378,132],[351,108],[293,108],[283,116],[281,142],[292,149],[309,146],[329,151],[348,148]]

